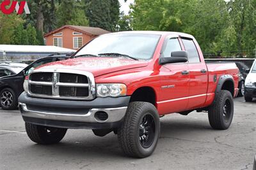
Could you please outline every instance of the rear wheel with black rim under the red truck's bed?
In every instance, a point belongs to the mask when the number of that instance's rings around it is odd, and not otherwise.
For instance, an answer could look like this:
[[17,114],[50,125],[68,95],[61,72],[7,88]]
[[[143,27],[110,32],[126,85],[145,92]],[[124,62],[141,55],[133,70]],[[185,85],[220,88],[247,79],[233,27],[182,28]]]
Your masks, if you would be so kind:
[[221,90],[208,111],[210,125],[213,129],[228,129],[231,125],[233,115],[234,101],[232,94],[227,90]]

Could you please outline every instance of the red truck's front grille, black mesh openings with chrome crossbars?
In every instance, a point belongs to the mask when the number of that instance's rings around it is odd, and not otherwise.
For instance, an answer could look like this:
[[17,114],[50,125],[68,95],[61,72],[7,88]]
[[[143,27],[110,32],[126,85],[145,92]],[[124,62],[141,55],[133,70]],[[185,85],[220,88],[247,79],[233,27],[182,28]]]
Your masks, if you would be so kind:
[[[92,74],[90,74],[90,78],[93,78]],[[92,99],[94,96],[90,90],[92,87],[90,82],[92,80],[86,74],[31,73],[29,95],[54,99]]]

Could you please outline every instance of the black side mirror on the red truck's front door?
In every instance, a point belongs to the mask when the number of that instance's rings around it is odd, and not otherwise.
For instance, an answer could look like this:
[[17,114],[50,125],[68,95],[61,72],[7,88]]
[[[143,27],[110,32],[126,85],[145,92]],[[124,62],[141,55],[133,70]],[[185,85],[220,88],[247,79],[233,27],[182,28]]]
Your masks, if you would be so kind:
[[188,62],[188,52],[185,51],[177,51],[171,53],[172,57],[162,57],[159,59],[159,64],[170,64],[170,63],[178,63],[178,62]]

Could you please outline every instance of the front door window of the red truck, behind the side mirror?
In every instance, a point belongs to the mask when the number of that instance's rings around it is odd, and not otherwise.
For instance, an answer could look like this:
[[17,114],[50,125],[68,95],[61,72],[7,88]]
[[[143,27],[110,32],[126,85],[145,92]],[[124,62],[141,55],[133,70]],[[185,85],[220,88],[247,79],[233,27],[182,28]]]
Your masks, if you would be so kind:
[[180,51],[181,46],[178,38],[171,38],[167,40],[165,49],[163,51],[163,57],[171,57],[172,52]]

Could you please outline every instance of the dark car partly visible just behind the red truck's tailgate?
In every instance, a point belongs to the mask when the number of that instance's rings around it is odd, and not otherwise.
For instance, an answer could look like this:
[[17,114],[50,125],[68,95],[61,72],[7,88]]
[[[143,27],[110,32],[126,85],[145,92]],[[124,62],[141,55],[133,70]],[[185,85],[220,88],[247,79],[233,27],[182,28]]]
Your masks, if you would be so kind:
[[246,66],[246,64],[244,64],[243,62],[236,62],[236,66],[239,69],[239,92],[237,96],[242,97],[244,96],[244,81],[246,79],[246,76],[248,75],[248,70],[250,70],[250,67]]

